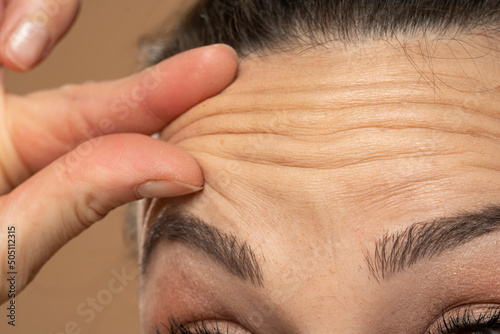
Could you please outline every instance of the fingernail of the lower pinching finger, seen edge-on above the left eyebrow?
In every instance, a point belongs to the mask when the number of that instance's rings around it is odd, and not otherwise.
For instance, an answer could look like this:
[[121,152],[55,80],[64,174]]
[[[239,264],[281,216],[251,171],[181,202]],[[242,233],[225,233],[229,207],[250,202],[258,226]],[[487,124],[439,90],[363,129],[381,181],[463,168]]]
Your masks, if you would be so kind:
[[190,186],[177,181],[148,181],[135,191],[142,198],[170,198],[202,190],[203,187]]

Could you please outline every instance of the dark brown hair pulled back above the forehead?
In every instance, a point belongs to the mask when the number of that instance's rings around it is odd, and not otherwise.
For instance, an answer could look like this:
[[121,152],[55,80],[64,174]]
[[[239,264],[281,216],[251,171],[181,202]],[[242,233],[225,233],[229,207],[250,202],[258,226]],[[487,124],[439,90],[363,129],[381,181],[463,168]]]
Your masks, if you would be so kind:
[[214,43],[246,56],[396,34],[485,33],[499,19],[499,0],[201,0],[170,35],[149,40],[148,62]]

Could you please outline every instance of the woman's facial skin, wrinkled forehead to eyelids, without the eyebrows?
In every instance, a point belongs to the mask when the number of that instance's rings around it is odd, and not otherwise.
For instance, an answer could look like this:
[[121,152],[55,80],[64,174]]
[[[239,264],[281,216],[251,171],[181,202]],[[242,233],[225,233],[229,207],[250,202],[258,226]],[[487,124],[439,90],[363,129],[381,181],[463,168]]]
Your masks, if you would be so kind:
[[175,317],[237,333],[434,334],[443,312],[498,308],[498,232],[387,279],[366,260],[385,233],[500,203],[497,46],[429,35],[244,59],[162,135],[200,163],[204,190],[147,203],[139,228],[145,240],[165,207],[197,216],[250,245],[263,285],[162,240],[142,277],[144,332]]

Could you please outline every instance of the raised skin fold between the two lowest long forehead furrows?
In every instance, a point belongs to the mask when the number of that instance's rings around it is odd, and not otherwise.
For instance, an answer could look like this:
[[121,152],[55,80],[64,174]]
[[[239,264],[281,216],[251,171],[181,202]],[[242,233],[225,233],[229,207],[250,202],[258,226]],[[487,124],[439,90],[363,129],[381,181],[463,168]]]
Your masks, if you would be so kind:
[[[180,147],[195,156],[296,169],[335,170],[376,162],[427,158],[491,159],[484,152],[498,150],[499,141],[468,134],[438,137],[427,129],[364,128],[320,137],[317,141],[274,134],[220,134],[186,139]],[[457,159],[458,160],[458,159]],[[417,161],[418,162],[418,161]]]

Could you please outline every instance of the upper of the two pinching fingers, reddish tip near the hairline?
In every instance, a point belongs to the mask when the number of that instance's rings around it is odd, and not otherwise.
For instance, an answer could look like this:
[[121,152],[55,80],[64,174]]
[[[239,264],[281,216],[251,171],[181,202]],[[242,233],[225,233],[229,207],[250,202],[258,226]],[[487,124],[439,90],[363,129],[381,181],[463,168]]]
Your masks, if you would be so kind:
[[237,66],[233,49],[213,45],[176,55],[126,79],[11,97],[11,136],[20,158],[35,172],[82,141],[161,130],[227,87]]

